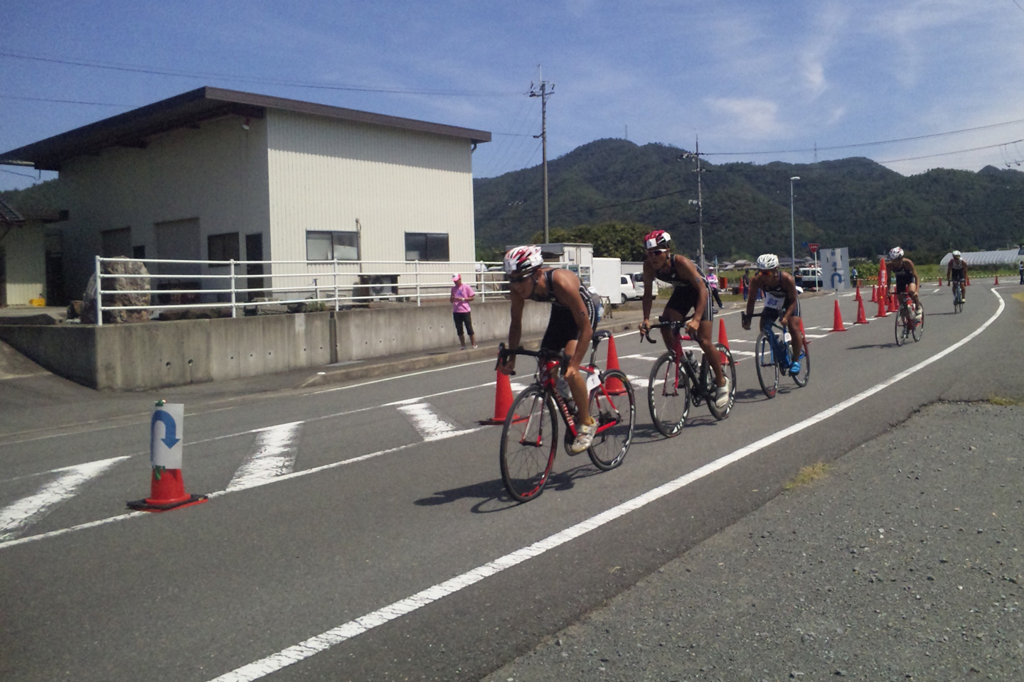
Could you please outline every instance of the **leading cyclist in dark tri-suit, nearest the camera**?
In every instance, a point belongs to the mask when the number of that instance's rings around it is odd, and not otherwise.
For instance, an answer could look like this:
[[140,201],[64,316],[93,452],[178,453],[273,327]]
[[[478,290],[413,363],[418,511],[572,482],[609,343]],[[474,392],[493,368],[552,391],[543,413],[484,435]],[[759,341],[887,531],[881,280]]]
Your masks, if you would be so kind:
[[[522,309],[526,300],[551,304],[548,329],[541,348],[565,350],[569,356],[565,382],[575,401],[578,436],[569,450],[579,454],[590,447],[597,431],[597,422],[587,408],[587,383],[580,372],[580,363],[587,354],[597,325],[597,307],[575,273],[565,268],[545,268],[541,247],[516,246],[505,254],[505,274],[512,300],[512,321],[509,324],[509,348],[518,349],[522,336]],[[499,367],[503,374],[515,369],[515,356]]]

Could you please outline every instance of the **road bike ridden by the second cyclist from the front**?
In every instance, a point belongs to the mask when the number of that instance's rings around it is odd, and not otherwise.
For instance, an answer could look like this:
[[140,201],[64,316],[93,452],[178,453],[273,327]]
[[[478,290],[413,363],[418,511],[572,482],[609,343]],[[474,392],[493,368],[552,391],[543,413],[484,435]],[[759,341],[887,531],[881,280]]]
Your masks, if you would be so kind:
[[[736,402],[736,365],[732,353],[722,344],[715,344],[715,349],[721,354],[722,371],[728,372],[729,402],[719,409],[715,406],[715,372],[707,357],[701,358],[700,365],[693,358],[693,351],[683,351],[682,342],[691,340],[689,335],[681,332],[685,322],[665,321],[658,318],[657,324],[650,329],[667,327],[672,329],[672,348],[666,351],[650,370],[647,383],[647,407],[654,427],[666,438],[678,436],[690,413],[690,402],[699,407],[701,402],[708,403],[708,409],[716,419],[725,419],[732,411]],[[656,344],[650,337],[650,332],[641,331],[641,338]]]

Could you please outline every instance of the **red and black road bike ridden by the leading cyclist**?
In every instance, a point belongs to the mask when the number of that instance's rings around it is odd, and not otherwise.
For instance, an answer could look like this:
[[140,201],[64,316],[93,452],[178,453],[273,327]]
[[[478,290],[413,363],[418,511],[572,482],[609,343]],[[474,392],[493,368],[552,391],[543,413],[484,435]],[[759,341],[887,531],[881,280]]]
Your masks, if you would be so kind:
[[[594,362],[602,338],[610,336],[602,329],[594,334],[590,360],[581,366],[587,380],[588,409],[597,422],[597,433],[587,454],[594,466],[607,471],[623,463],[633,441],[636,405],[633,385],[620,369],[601,371]],[[505,417],[502,426],[501,468],[505,490],[515,500],[527,502],[544,492],[558,450],[558,419],[565,424],[563,445],[577,437],[575,404],[562,378],[569,358],[564,351],[527,351],[499,346],[499,364],[508,358],[525,355],[537,358],[534,382],[522,390]],[[560,385],[561,384],[561,385]]]

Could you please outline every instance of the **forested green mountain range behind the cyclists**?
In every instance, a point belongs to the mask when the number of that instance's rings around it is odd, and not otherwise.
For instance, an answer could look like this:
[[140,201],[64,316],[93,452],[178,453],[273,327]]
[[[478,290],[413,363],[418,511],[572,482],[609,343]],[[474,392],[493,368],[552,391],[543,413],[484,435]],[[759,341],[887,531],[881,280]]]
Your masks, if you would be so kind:
[[[696,165],[683,149],[604,139],[548,163],[551,240],[583,234],[639,239],[654,228],[672,233],[677,247],[698,251]],[[791,248],[790,178],[794,231],[801,242],[847,246],[874,258],[902,245],[920,262],[952,248],[1007,248],[1024,241],[1024,173],[991,166],[978,173],[935,169],[904,177],[869,158],[817,164],[712,164],[701,160],[705,253],[752,258]],[[540,240],[542,168],[473,181],[477,251]],[[556,235],[558,238],[556,238]],[[587,239],[592,241],[592,239]],[[594,240],[595,253],[602,251]],[[639,244],[634,257],[640,256]],[[629,246],[626,246],[629,249]],[[627,257],[625,253],[599,256]]]

